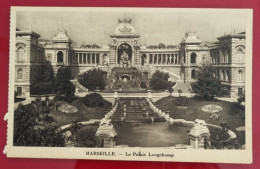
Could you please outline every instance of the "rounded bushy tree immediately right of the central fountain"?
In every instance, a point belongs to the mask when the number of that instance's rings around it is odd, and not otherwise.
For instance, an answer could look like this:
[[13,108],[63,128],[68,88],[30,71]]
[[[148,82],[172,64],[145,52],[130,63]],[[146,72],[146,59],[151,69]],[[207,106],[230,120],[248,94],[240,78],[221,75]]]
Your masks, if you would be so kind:
[[174,82],[168,81],[168,73],[156,71],[150,80],[150,86],[153,90],[166,90],[174,85]]

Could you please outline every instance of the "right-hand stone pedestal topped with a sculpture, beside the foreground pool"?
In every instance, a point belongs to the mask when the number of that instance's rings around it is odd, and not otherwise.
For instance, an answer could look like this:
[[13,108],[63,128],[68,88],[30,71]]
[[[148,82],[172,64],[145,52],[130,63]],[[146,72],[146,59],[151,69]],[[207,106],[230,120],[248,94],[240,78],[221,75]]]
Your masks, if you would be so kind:
[[195,124],[189,133],[190,145],[195,149],[204,148],[205,138],[210,136],[210,132],[204,120],[195,120]]

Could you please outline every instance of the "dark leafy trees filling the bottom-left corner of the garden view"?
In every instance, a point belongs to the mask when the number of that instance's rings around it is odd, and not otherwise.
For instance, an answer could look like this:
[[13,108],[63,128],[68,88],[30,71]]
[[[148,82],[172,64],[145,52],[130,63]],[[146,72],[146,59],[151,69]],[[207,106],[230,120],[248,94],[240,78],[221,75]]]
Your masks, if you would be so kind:
[[56,127],[48,122],[42,128],[36,128],[39,118],[37,110],[31,104],[20,104],[14,112],[14,140],[15,146],[64,147],[64,139]]

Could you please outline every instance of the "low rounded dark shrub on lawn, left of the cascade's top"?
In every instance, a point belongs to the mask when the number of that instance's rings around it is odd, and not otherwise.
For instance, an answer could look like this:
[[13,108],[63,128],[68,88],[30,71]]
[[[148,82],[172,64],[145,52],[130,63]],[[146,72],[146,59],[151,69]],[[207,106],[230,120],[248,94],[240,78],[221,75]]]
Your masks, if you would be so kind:
[[98,93],[91,93],[84,97],[84,104],[88,107],[103,107],[104,100],[103,97]]

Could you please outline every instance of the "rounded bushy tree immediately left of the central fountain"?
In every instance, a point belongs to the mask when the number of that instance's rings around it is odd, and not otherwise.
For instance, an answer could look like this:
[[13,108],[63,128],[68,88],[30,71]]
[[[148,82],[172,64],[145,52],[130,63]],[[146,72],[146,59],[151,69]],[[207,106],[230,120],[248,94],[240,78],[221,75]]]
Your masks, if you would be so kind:
[[79,77],[79,83],[90,91],[105,89],[104,72],[99,69],[90,70]]

